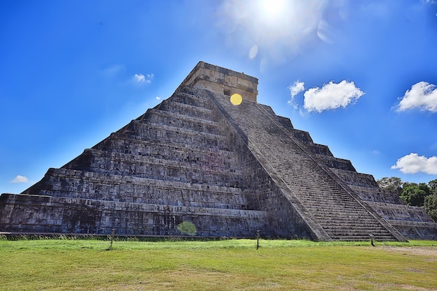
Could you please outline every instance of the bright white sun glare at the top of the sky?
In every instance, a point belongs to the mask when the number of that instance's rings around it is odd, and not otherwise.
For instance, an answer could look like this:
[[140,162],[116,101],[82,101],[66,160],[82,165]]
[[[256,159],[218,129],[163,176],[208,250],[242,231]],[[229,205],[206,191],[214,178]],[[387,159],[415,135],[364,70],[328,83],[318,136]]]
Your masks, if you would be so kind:
[[[226,44],[246,50],[260,71],[283,64],[318,39],[332,43],[332,27],[323,21],[329,0],[222,0],[217,27]],[[340,5],[340,4],[339,4]]]

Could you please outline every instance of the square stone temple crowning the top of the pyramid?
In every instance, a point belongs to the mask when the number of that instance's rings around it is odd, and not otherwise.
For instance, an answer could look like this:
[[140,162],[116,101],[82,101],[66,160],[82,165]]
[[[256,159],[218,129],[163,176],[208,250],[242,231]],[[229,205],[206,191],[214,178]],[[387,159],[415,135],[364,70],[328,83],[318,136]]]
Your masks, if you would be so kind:
[[207,89],[218,94],[231,96],[240,94],[244,100],[256,102],[258,96],[258,79],[234,70],[221,68],[200,61],[191,70],[179,88],[189,86],[199,89]]

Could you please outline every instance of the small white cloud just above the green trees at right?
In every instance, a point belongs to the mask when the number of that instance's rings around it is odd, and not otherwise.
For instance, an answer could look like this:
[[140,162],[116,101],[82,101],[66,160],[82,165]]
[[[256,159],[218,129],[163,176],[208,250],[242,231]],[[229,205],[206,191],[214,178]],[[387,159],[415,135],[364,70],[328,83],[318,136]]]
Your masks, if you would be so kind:
[[392,169],[399,169],[404,174],[415,174],[424,172],[426,174],[437,174],[437,156],[427,158],[411,153],[399,158]]

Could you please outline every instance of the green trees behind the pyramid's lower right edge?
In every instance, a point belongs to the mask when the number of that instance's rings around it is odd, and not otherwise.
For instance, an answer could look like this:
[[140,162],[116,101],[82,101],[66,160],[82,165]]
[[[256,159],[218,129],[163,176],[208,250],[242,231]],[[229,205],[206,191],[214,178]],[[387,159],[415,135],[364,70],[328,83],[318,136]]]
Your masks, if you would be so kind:
[[396,191],[407,205],[423,207],[432,220],[437,222],[437,179],[428,184],[417,184],[404,182],[398,177],[384,177],[376,182],[380,188]]

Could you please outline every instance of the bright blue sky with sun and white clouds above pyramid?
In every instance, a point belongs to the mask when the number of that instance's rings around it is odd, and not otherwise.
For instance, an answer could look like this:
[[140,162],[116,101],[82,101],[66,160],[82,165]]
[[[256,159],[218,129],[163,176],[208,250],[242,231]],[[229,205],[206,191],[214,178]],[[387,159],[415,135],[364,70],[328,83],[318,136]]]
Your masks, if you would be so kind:
[[171,96],[198,61],[358,172],[437,179],[437,1],[0,1],[0,193]]

